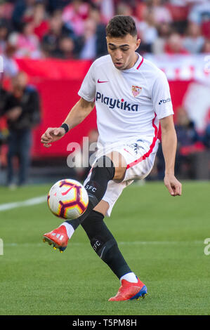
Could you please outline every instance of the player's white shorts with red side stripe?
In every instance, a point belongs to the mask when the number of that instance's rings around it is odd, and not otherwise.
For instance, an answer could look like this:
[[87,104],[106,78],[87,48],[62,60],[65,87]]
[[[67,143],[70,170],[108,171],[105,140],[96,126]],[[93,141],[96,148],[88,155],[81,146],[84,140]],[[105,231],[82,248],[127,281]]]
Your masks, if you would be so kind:
[[[112,208],[125,187],[131,185],[133,180],[143,179],[150,173],[152,166],[154,165],[158,144],[158,139],[154,140],[152,144],[144,140],[135,139],[131,140],[129,143],[114,144],[110,147],[110,149],[106,149],[105,153],[103,150],[99,150],[97,152],[93,165],[96,163],[97,159],[112,151],[117,151],[122,154],[127,164],[124,179],[120,183],[110,180],[107,185],[107,190],[103,196],[103,200],[107,202],[110,207],[107,210],[106,216],[111,215]],[[86,185],[90,178],[91,171],[88,173],[88,176],[84,181],[84,185]]]

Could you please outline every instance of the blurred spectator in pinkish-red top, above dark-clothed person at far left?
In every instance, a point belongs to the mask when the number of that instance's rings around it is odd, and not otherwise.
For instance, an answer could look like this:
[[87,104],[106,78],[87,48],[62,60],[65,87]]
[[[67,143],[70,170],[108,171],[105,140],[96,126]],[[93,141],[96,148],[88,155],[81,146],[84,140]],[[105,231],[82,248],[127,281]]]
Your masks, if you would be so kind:
[[15,46],[17,49],[17,51],[15,52],[15,56],[17,58],[41,58],[39,39],[33,32],[33,23],[22,23],[21,30],[21,33],[13,32],[8,38],[9,43]]

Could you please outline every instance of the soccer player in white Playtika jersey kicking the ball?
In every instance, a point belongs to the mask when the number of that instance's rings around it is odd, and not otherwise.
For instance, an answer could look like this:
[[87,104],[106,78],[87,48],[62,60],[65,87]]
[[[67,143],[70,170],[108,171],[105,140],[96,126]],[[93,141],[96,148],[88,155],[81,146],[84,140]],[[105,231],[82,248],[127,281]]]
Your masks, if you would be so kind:
[[147,287],[129,268],[103,218],[110,216],[127,185],[145,178],[152,170],[159,144],[159,122],[164,184],[171,196],[181,195],[181,183],[174,176],[176,132],[164,72],[136,53],[140,39],[130,16],[114,16],[107,24],[106,34],[109,55],[93,62],[78,92],[81,98],[63,124],[48,128],[41,136],[41,143],[50,147],[81,123],[96,105],[98,152],[84,182],[88,208],[79,218],[66,220],[46,233],[44,241],[63,251],[81,224],[93,249],[121,280],[117,295],[110,301],[126,301],[144,297]]

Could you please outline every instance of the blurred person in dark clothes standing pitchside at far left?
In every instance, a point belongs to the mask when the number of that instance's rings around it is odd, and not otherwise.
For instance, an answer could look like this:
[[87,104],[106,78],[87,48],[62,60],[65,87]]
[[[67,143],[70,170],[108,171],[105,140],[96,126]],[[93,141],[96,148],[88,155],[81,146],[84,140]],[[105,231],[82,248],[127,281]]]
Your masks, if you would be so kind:
[[27,84],[25,72],[18,72],[12,79],[13,91],[8,95],[4,114],[8,119],[8,173],[7,184],[14,183],[13,158],[18,156],[18,185],[26,183],[30,148],[32,145],[32,128],[39,124],[39,94],[33,86]]

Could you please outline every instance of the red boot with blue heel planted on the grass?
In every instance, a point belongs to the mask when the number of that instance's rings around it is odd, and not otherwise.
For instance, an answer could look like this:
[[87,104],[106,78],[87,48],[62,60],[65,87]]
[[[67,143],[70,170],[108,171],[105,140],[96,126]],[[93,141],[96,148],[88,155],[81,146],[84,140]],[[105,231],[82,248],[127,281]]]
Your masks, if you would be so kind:
[[147,286],[140,282],[132,283],[122,279],[122,285],[117,292],[117,295],[110,298],[109,301],[131,301],[133,299],[145,298],[147,295]]

